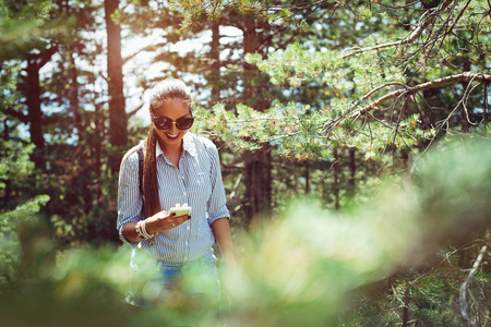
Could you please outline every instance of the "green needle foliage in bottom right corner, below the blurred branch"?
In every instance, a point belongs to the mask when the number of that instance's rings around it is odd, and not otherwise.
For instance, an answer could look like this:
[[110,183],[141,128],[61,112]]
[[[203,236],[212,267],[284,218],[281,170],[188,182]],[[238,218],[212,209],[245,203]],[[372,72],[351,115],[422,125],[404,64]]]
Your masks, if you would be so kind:
[[[450,261],[455,258],[455,251],[445,249],[441,265],[422,274],[400,276],[396,280],[384,280],[379,284],[381,291],[362,296],[356,304],[352,316],[346,320],[349,326],[381,326],[400,324],[407,307],[408,320],[426,326],[464,326],[456,312],[458,291],[465,274]],[[472,293],[488,294],[489,274],[483,279],[474,280]],[[484,295],[486,296],[486,295]],[[475,299],[476,304],[484,299]],[[482,326],[489,324],[489,305],[479,303],[472,319],[479,319]],[[348,317],[348,316],[347,316]]]

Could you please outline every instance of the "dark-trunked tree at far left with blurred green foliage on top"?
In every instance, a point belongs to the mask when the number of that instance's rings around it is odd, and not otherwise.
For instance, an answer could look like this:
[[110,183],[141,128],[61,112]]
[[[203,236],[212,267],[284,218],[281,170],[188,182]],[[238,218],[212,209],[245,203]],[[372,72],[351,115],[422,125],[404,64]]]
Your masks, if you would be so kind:
[[[55,21],[55,24],[48,22],[51,8],[50,1],[32,1],[25,5],[16,1],[5,1],[0,7],[2,12],[0,21],[3,45],[0,57],[2,65],[12,66],[8,60],[25,61],[25,69],[15,72],[19,73],[19,84],[15,86],[14,93],[7,92],[4,95],[7,97],[10,95],[15,99],[15,94],[22,94],[21,101],[25,105],[27,112],[24,113],[20,104],[11,101],[3,110],[10,117],[28,124],[31,141],[36,145],[33,157],[38,168],[44,167],[41,152],[45,146],[39,70],[57,51],[57,38],[62,32],[55,25],[58,21]],[[22,27],[17,27],[19,25]],[[19,35],[23,34],[26,34],[26,37],[20,38]]]

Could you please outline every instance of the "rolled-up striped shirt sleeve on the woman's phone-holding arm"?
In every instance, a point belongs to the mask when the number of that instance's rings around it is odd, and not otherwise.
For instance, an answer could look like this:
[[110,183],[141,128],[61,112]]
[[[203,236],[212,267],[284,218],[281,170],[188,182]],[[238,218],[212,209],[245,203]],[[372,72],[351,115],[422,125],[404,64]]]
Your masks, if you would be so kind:
[[131,153],[127,160],[122,160],[119,171],[117,229],[120,239],[135,247],[139,243],[129,242],[122,235],[122,228],[129,222],[137,222],[143,218],[143,198],[139,186],[139,156],[136,152]]

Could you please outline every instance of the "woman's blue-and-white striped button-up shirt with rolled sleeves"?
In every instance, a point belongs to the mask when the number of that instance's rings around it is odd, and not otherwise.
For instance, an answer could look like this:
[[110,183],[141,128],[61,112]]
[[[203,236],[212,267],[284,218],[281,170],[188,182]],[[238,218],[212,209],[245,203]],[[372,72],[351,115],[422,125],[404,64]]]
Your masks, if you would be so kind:
[[160,206],[168,211],[176,204],[191,207],[191,219],[154,239],[131,243],[121,233],[128,222],[143,219],[143,195],[139,189],[139,156],[131,149],[121,165],[118,187],[117,228],[123,242],[142,247],[166,263],[192,262],[212,250],[215,243],[211,225],[218,218],[229,218],[226,206],[220,162],[215,145],[188,132],[183,136],[179,168],[156,146],[157,179]]

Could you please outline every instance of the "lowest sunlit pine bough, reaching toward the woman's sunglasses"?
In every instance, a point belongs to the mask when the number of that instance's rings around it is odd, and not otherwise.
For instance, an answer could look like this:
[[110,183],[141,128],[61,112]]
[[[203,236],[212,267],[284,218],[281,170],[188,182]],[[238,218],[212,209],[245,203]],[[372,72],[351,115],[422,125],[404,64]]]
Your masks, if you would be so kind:
[[275,101],[264,112],[239,105],[237,114],[217,105],[213,113],[197,108],[195,114],[206,122],[203,128],[213,131],[233,152],[254,150],[270,144],[277,146],[283,157],[297,160],[327,159],[335,147],[357,148],[367,159],[380,159],[387,147],[412,148],[434,135],[431,130],[418,129],[418,114],[398,123],[394,131],[394,123],[366,124],[361,118],[345,114],[346,106],[342,101],[333,100],[333,108],[314,112],[310,112],[309,106],[295,102],[284,106]]

